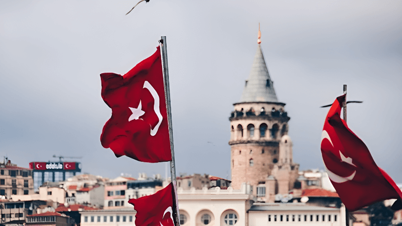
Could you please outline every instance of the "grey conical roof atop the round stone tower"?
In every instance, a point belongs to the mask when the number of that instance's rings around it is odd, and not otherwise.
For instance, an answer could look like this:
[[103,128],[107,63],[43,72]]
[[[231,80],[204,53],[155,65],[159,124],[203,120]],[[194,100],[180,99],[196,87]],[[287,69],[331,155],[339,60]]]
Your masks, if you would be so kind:
[[[261,41],[259,40],[259,42]],[[240,102],[278,102],[260,43],[258,43],[251,72],[246,80]]]

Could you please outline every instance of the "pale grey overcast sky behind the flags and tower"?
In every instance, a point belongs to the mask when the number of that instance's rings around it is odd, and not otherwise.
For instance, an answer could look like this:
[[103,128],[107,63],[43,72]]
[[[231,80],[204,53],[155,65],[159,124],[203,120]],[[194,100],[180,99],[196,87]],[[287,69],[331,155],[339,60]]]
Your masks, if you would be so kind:
[[177,174],[230,178],[230,122],[257,49],[286,103],[293,160],[324,169],[320,138],[348,85],[348,125],[402,182],[401,1],[1,1],[0,156],[21,167],[82,157],[82,172],[165,176],[99,136],[102,72],[126,73],[167,37]]

